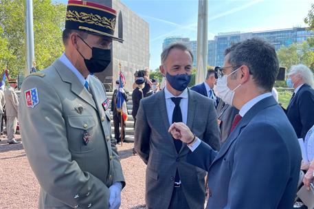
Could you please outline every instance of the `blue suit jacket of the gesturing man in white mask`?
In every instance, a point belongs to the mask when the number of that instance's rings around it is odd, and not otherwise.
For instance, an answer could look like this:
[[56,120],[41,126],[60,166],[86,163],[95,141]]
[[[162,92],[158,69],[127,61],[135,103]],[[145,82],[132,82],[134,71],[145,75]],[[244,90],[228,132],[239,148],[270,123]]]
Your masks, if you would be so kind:
[[240,120],[217,153],[201,143],[188,162],[208,170],[207,208],[293,208],[301,151],[284,111],[270,96]]

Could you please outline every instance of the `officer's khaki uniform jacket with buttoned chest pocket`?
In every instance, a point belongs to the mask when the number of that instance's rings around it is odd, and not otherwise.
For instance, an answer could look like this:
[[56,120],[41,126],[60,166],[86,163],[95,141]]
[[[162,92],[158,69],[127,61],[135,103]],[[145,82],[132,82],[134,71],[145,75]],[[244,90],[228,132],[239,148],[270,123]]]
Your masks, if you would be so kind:
[[109,186],[124,186],[104,86],[89,76],[89,88],[59,60],[23,82],[21,137],[41,185],[39,208],[109,208]]

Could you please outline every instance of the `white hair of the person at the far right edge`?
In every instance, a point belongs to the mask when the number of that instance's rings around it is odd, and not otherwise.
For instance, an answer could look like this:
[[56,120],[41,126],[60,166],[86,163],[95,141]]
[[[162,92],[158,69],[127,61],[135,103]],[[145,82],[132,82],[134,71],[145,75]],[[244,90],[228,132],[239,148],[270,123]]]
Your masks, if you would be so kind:
[[311,72],[311,69],[309,69],[309,67],[306,67],[305,65],[302,64],[293,65],[291,66],[288,75],[289,76],[298,75],[302,78],[304,83],[314,88],[314,76],[313,72]]

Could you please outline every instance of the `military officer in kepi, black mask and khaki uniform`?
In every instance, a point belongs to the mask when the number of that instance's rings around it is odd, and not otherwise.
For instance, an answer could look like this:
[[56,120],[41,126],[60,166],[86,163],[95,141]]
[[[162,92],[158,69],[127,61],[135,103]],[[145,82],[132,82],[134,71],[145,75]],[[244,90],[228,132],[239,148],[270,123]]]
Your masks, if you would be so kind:
[[25,78],[21,137],[41,192],[38,208],[119,208],[125,186],[109,100],[91,74],[111,62],[116,12],[88,1],[69,1],[65,54]]

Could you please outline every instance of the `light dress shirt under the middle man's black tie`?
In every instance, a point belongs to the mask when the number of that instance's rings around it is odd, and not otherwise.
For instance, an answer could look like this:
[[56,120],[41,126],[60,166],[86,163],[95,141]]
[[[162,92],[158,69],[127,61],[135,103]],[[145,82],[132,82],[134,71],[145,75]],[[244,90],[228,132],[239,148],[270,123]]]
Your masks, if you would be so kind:
[[179,96],[174,96],[170,93],[167,87],[165,87],[166,108],[170,125],[172,124],[172,114],[175,109],[175,103],[171,100],[172,97],[182,98],[180,101],[180,109],[182,113],[182,122],[186,124],[186,121],[188,120],[188,88],[184,89]]

